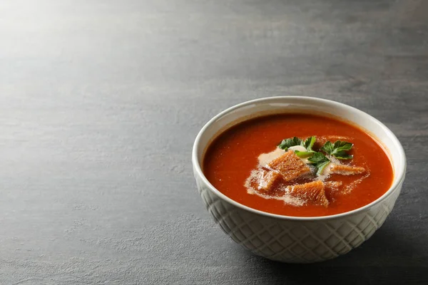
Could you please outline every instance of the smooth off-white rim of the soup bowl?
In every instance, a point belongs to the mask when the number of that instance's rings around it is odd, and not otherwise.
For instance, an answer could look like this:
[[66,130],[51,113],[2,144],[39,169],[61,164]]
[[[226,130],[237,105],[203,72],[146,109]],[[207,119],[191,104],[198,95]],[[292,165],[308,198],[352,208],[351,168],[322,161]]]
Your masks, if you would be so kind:
[[[357,115],[369,118],[372,121],[372,123],[377,124],[380,128],[382,128],[382,130],[387,134],[387,136],[389,138],[394,140],[394,144],[397,145],[397,150],[399,152],[400,161],[402,161],[403,163],[401,165],[398,165],[397,173],[394,172],[394,177],[397,177],[397,179],[394,179],[394,181],[392,182],[392,185],[389,187],[387,192],[384,192],[384,194],[382,196],[375,199],[373,202],[366,204],[363,207],[353,209],[353,210],[348,211],[348,212],[342,212],[340,214],[332,214],[332,215],[328,215],[328,216],[297,217],[297,216],[287,216],[287,215],[282,215],[282,214],[272,214],[269,212],[263,212],[263,211],[260,211],[258,209],[253,209],[251,207],[245,206],[245,204],[240,204],[239,202],[236,202],[235,200],[229,198],[228,196],[224,195],[222,192],[217,190],[208,181],[208,179],[203,174],[202,168],[200,167],[200,161],[198,160],[198,150],[200,147],[200,145],[199,145],[200,139],[202,138],[203,134],[205,133],[205,130],[207,130],[210,127],[210,125],[212,125],[219,118],[222,118],[224,115],[227,115],[228,113],[232,112],[233,110],[243,108],[246,105],[251,105],[254,103],[268,103],[271,100],[296,100],[296,99],[297,100],[304,100],[304,101],[307,100],[307,101],[312,101],[312,102],[319,102],[319,103],[321,103],[321,102],[322,103],[328,103],[328,104],[331,104],[332,106],[334,106],[334,108],[345,108],[345,109],[350,108],[355,113],[357,113]],[[394,163],[394,162],[391,162],[391,163]],[[333,100],[327,100],[327,99],[322,99],[322,98],[315,98],[315,97],[309,97],[309,96],[274,96],[274,97],[259,98],[259,99],[255,99],[255,100],[248,100],[248,101],[245,101],[243,103],[233,105],[232,107],[223,110],[222,112],[218,113],[213,118],[211,118],[207,123],[205,123],[203,128],[200,129],[198,135],[195,138],[195,142],[193,143],[193,151],[192,151],[192,164],[193,164],[193,171],[195,172],[195,175],[198,175],[200,177],[200,179],[202,179],[203,183],[208,186],[208,189],[211,192],[213,192],[215,195],[217,195],[221,199],[225,200],[226,202],[229,202],[230,204],[233,204],[240,209],[244,209],[248,212],[253,212],[254,214],[260,214],[260,215],[265,216],[265,217],[272,217],[272,218],[276,218],[276,219],[287,219],[287,220],[295,220],[295,221],[317,221],[317,220],[337,219],[337,218],[347,217],[347,216],[350,216],[352,214],[364,212],[365,210],[373,207],[374,205],[379,204],[379,202],[382,202],[384,199],[389,197],[389,195],[391,195],[392,192],[397,190],[399,185],[402,184],[404,177],[405,177],[405,174],[406,174],[407,160],[406,160],[406,155],[404,153],[404,149],[402,147],[402,144],[399,142],[398,138],[394,135],[394,133],[392,133],[392,131],[389,130],[389,128],[387,128],[387,126],[384,125],[382,122],[380,122],[376,118],[372,117],[372,115],[369,115],[369,114],[363,112],[362,110],[359,110],[359,109],[352,107],[350,105],[346,105],[344,103],[339,103],[339,102],[336,102]]]

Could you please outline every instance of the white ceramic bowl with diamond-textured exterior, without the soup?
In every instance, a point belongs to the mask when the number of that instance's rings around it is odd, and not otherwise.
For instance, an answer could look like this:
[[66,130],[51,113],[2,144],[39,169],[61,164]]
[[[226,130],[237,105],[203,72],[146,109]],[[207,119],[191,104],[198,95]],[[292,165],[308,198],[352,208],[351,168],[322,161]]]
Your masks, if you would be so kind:
[[[350,212],[325,217],[290,217],[261,212],[235,202],[208,182],[201,169],[203,155],[220,131],[258,115],[287,111],[330,114],[374,135],[392,160],[392,186],[379,199]],[[406,172],[402,145],[379,120],[342,103],[295,96],[252,100],[216,115],[200,130],[193,145],[192,162],[200,197],[223,231],[255,254],[291,263],[332,259],[369,239],[394,207]]]

